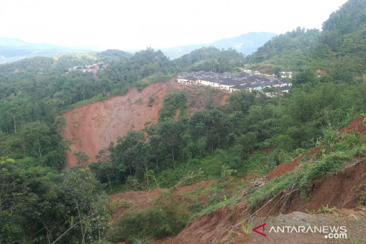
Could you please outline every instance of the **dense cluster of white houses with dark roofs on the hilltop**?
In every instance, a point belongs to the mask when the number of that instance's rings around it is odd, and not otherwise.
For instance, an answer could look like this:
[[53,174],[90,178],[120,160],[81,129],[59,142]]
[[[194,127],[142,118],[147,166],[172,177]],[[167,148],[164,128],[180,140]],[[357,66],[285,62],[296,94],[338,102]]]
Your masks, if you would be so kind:
[[242,89],[249,91],[261,91],[266,87],[278,87],[281,91],[288,92],[292,86],[290,80],[279,80],[272,76],[255,75],[246,72],[181,72],[178,73],[177,82],[180,83],[180,85],[211,86],[222,90],[227,90],[229,92]]

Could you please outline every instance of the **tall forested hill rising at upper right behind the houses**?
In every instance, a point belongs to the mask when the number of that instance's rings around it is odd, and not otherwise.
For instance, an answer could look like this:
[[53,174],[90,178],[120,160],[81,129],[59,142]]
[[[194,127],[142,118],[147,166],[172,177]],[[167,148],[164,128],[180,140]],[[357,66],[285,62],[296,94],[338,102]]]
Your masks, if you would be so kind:
[[298,27],[268,41],[247,57],[249,67],[272,73],[307,68],[335,80],[366,72],[366,2],[350,0],[323,23],[323,31]]

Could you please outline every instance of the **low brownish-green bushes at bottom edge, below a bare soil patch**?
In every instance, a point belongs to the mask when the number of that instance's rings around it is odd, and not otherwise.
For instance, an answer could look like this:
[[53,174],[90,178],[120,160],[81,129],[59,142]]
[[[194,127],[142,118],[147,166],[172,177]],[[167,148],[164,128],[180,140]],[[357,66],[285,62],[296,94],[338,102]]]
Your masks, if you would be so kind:
[[148,210],[127,212],[119,221],[122,231],[114,241],[133,243],[136,239],[164,238],[178,234],[187,224],[190,212],[173,192],[160,195]]

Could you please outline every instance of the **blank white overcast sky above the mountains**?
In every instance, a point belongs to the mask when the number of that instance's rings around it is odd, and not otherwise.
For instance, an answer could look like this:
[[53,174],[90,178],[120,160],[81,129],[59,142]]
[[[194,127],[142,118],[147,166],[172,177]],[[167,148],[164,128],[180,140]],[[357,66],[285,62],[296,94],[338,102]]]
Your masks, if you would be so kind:
[[0,37],[86,49],[205,44],[248,32],[321,29],[346,0],[2,0]]

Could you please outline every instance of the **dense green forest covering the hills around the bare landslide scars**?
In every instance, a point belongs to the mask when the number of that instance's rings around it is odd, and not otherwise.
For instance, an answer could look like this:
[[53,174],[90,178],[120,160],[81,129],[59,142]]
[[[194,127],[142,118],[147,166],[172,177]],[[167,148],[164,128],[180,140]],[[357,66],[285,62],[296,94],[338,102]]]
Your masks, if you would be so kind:
[[[209,47],[171,61],[160,50],[147,48],[134,55],[107,50],[0,65],[0,243],[104,240],[111,231],[110,192],[172,188],[217,177],[217,191],[226,199],[233,194],[228,185],[232,177],[253,167],[264,175],[324,142],[329,131],[366,112],[365,10],[365,1],[350,0],[330,15],[323,31],[297,28],[247,57]],[[95,74],[69,72],[97,61],[108,67]],[[131,86],[141,89],[168,80],[180,71],[235,72],[248,63],[299,71],[294,87],[274,97],[235,91],[228,105],[207,106],[190,116],[184,114],[187,94],[169,94],[157,124],[111,142],[90,169],[65,169],[70,142],[60,134],[66,121],[56,115],[124,94]],[[315,75],[317,69],[324,71],[322,77]],[[181,116],[175,121],[177,108]],[[273,151],[252,154],[266,148]],[[213,158],[222,161],[219,168],[210,164]],[[188,209],[167,194],[149,212],[121,219],[121,229],[130,228],[107,240],[132,243],[135,237],[178,234],[204,208],[227,204],[221,195],[208,205],[197,203]],[[146,229],[146,221],[159,229]]]

